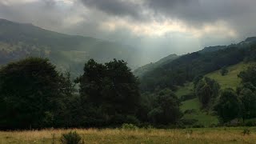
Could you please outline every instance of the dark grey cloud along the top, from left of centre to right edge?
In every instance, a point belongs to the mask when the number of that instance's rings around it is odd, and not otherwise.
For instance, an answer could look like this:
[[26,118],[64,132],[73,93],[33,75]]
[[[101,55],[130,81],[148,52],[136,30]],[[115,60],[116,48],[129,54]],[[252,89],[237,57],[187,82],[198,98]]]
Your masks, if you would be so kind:
[[[256,11],[254,0],[81,0],[85,6],[94,7],[114,16],[130,16],[134,20],[145,21],[154,19],[177,19],[202,26],[203,23],[226,19],[233,20]],[[142,14],[143,10],[150,14]]]

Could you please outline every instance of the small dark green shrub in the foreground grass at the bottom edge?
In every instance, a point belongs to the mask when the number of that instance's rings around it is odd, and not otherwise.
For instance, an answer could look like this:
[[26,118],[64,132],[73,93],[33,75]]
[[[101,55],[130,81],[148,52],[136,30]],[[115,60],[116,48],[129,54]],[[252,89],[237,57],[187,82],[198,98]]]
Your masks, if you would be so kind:
[[77,132],[70,131],[68,134],[62,134],[60,139],[62,144],[81,144],[83,142],[81,136]]

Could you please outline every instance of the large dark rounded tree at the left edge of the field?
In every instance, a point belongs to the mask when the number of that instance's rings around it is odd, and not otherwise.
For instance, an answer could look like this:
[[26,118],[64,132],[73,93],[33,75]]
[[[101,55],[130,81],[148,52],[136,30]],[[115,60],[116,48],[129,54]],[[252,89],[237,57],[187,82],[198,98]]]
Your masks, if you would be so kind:
[[0,70],[0,127],[38,128],[52,124],[61,80],[47,59],[26,58]]

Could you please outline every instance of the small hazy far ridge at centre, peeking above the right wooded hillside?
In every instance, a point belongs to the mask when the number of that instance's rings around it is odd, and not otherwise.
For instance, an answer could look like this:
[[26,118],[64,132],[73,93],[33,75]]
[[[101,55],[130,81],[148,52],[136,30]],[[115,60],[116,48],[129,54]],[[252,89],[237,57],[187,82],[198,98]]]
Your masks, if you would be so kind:
[[168,62],[173,61],[175,58],[178,58],[177,54],[170,54],[165,58],[160,59],[158,62],[151,62],[145,66],[141,66],[138,69],[134,70],[134,75],[138,76],[139,78],[143,76],[146,72],[150,70],[154,70],[154,68],[158,66],[162,66]]

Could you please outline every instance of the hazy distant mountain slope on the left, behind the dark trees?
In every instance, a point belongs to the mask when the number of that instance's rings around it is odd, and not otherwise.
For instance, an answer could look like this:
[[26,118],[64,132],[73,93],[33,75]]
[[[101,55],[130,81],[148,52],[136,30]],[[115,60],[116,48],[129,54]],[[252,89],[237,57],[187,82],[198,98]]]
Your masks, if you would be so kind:
[[74,66],[94,58],[108,62],[123,59],[129,66],[139,66],[138,49],[97,38],[60,34],[31,24],[0,19],[0,64],[25,56],[50,58],[58,66]]

